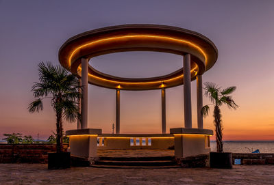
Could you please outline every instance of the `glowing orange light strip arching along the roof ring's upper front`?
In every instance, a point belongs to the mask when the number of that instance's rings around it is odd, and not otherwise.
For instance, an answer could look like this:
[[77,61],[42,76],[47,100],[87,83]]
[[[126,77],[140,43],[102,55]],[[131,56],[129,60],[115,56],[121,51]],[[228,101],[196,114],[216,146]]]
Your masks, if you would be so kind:
[[71,56],[69,57],[69,67],[71,66],[71,58],[73,57],[74,53],[76,51],[78,51],[79,49],[84,48],[86,46],[90,46],[92,44],[97,44],[99,42],[105,42],[105,41],[110,41],[110,40],[119,40],[121,38],[160,38],[160,39],[164,39],[164,40],[172,40],[175,42],[190,44],[194,48],[197,48],[203,54],[203,56],[205,57],[205,59],[207,61],[206,53],[199,46],[197,46],[196,44],[193,44],[192,42],[189,42],[188,40],[180,40],[177,38],[170,38],[170,37],[158,36],[158,35],[124,35],[124,36],[120,36],[120,37],[112,37],[112,38],[104,38],[104,39],[100,39],[100,40],[95,40],[95,41],[89,42],[87,44],[84,44],[82,46],[75,48],[75,50],[71,53]]

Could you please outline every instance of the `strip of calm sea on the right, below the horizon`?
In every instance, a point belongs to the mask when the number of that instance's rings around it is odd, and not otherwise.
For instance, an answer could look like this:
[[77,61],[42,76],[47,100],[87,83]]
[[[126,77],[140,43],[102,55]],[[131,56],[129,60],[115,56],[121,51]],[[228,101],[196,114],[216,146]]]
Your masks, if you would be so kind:
[[[216,152],[216,141],[210,142],[212,152]],[[260,153],[274,153],[274,141],[224,141],[224,152],[251,153],[255,150]]]

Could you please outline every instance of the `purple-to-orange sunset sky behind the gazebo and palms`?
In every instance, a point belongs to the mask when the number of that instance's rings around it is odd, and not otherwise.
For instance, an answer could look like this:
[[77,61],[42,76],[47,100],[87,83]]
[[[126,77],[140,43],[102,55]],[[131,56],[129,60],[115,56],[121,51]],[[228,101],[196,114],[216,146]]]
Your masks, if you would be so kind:
[[[203,82],[235,85],[238,110],[221,107],[224,140],[274,140],[274,1],[8,1],[0,0],[0,140],[21,132],[47,139],[55,130],[49,102],[30,114],[38,63],[58,64],[60,46],[84,31],[124,24],[171,25],[206,35],[219,50]],[[182,68],[182,56],[127,52],[95,57],[95,69],[122,77],[152,77]],[[192,126],[197,128],[196,81]],[[161,93],[121,91],[121,133],[161,132]],[[89,85],[88,126],[110,133],[115,90]],[[166,89],[166,125],[184,127],[183,86]],[[208,99],[203,99],[208,104]],[[212,108],[212,107],[211,107]],[[64,130],[76,123],[64,123]],[[204,128],[214,129],[212,111]],[[214,137],[212,137],[214,140]]]

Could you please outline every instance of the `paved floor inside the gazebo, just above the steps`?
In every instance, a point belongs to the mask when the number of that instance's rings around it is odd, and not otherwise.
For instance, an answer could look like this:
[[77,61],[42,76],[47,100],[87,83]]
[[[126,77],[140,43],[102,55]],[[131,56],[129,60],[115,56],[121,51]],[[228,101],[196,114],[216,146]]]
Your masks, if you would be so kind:
[[160,157],[174,156],[174,150],[97,150],[97,155],[105,157]]

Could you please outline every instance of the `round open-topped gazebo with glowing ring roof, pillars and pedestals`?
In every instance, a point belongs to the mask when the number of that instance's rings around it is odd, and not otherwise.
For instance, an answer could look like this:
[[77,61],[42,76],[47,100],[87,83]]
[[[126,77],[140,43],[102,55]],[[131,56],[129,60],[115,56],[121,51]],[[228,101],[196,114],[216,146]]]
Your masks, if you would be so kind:
[[[164,76],[131,79],[104,74],[88,64],[88,61],[92,61],[92,57],[125,51],[158,51],[182,55],[184,58],[182,61],[183,68]],[[86,158],[96,156],[97,137],[108,139],[109,142],[105,142],[104,147],[112,143],[110,142],[111,139],[118,141],[125,138],[127,142],[121,141],[123,144],[119,145],[122,148],[128,148],[132,138],[134,138],[134,143],[136,143],[136,138],[145,138],[144,143],[148,143],[147,138],[169,138],[171,145],[172,141],[175,145],[175,156],[177,157],[209,152],[208,136],[212,135],[213,132],[203,129],[203,117],[201,115],[203,106],[202,75],[212,68],[217,57],[216,46],[206,36],[195,31],[164,25],[104,27],[86,31],[70,38],[60,48],[59,61],[64,68],[79,76],[79,83],[82,85],[82,100],[79,103],[82,120],[77,122],[77,130],[66,131],[66,134],[71,137],[71,154]],[[192,128],[191,118],[190,82],[195,79],[197,81],[198,128]],[[116,89],[116,134],[102,134],[101,129],[88,128],[88,83]],[[170,133],[166,133],[165,89],[178,85],[184,85],[184,127],[171,128]],[[151,89],[160,89],[162,92],[162,134],[120,134],[120,91]],[[151,142],[153,143],[153,140]],[[161,142],[158,145],[163,146],[166,145],[167,141]],[[100,143],[102,143],[101,140]],[[193,150],[191,146],[195,146],[195,149]]]

